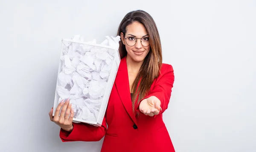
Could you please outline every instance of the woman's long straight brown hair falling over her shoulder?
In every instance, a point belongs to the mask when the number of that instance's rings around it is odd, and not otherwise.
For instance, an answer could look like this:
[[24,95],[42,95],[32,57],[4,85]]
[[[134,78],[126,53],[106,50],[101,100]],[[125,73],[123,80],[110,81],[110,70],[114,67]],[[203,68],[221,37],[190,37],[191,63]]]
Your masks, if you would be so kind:
[[[122,32],[125,36],[127,26],[133,22],[139,22],[145,26],[150,43],[150,51],[145,57],[131,89],[132,92],[134,92],[134,95],[132,96],[132,108],[135,110],[136,100],[140,101],[145,97],[146,93],[150,90],[154,79],[159,76],[160,68],[162,66],[162,48],[156,23],[151,15],[142,10],[131,11],[126,14],[119,25],[117,35],[121,36]],[[119,53],[121,58],[127,55],[125,45],[122,41],[119,41]]]

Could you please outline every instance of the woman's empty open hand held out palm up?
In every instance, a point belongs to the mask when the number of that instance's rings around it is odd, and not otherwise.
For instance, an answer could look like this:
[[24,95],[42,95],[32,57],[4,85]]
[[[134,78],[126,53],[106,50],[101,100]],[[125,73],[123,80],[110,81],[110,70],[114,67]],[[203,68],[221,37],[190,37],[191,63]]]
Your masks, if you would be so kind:
[[158,115],[160,110],[162,110],[160,106],[161,101],[157,97],[151,96],[140,102],[140,112],[149,116]]

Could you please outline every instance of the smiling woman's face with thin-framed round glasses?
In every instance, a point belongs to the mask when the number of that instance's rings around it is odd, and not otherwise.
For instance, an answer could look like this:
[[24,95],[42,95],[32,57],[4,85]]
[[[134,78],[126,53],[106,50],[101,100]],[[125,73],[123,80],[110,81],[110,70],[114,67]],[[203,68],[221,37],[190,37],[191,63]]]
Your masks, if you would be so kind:
[[[136,40],[136,38],[141,39]],[[150,50],[150,45],[148,32],[143,24],[134,22],[128,25],[126,34],[121,33],[121,39],[127,51],[127,58],[131,58],[135,62],[142,62],[145,59]]]

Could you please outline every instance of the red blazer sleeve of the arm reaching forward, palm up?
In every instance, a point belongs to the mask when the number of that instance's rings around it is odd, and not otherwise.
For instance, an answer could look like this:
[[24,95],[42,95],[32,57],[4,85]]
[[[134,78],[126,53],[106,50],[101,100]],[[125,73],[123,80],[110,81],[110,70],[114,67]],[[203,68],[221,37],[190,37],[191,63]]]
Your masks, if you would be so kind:
[[[172,87],[174,83],[174,71],[171,65],[168,65],[166,69],[163,69],[154,88],[148,92],[147,96],[142,100],[149,98],[151,96],[156,96],[161,101],[162,110],[159,114],[163,113],[167,108],[171,98]],[[140,100],[140,101],[142,101]],[[140,112],[140,101],[137,104],[137,111]],[[140,112],[141,113],[141,112]]]

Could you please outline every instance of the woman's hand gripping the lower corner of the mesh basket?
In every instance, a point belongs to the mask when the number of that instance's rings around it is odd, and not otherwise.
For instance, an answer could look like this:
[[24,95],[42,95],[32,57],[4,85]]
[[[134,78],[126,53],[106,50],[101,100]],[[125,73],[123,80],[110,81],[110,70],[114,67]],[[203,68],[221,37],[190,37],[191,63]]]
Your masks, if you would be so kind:
[[[61,109],[61,106],[62,109]],[[61,109],[61,115],[59,116]],[[67,132],[71,132],[73,130],[73,116],[74,116],[74,110],[72,108],[72,105],[70,104],[70,99],[68,98],[65,102],[64,99],[61,100],[59,105],[56,108],[55,115],[52,116],[53,108],[49,112],[50,120],[55,122],[58,126],[60,126],[62,129],[66,130]],[[70,114],[71,112],[71,114]],[[69,117],[70,115],[70,117]]]

